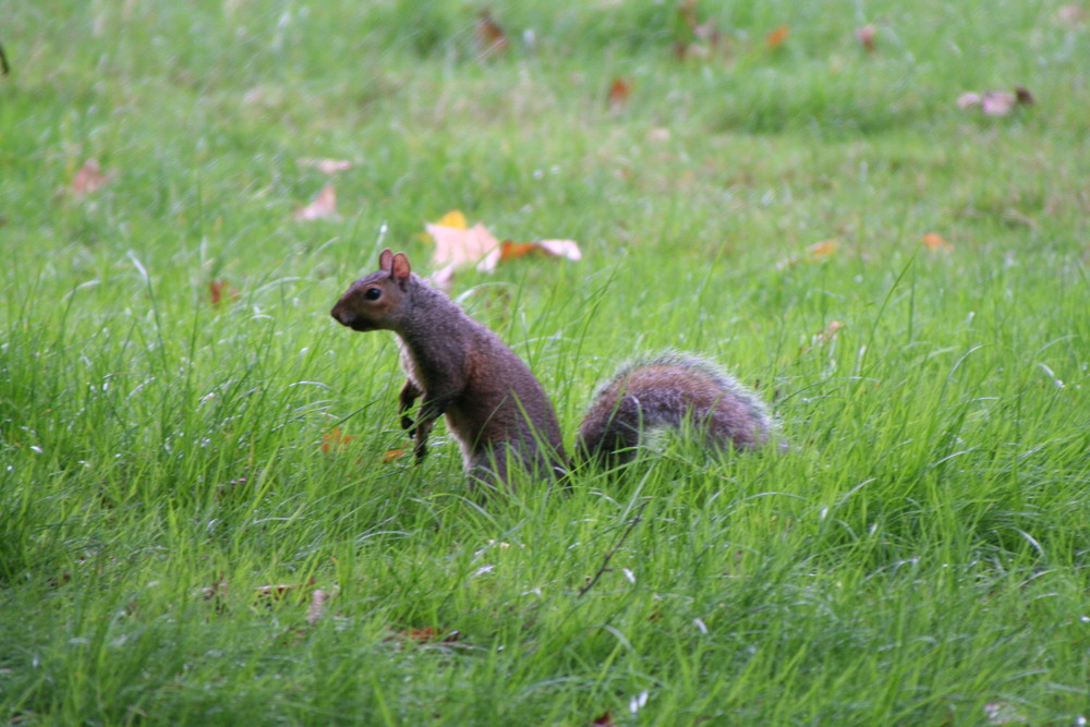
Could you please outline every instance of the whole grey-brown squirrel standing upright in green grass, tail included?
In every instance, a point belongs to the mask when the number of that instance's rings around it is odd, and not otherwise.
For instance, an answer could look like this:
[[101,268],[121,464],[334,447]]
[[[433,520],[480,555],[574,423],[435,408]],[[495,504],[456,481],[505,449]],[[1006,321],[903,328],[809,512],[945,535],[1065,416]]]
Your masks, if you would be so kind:
[[[439,416],[462,450],[471,482],[509,486],[509,465],[535,477],[565,477],[560,425],[526,364],[489,328],[412,272],[404,253],[384,250],[378,271],[360,278],[330,311],[356,331],[392,330],[407,381],[401,427],[419,462]],[[422,399],[415,421],[408,415]],[[631,460],[652,428],[698,426],[716,448],[759,447],[771,417],[761,400],[714,364],[665,352],[623,366],[595,396],[576,439],[577,461]]]

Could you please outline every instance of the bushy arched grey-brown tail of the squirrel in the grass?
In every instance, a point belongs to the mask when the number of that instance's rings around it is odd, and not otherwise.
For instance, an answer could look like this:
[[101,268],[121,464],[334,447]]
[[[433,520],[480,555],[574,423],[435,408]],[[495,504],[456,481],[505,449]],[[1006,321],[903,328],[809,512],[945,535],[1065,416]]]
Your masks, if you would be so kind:
[[597,391],[576,438],[576,457],[619,464],[645,432],[689,423],[714,448],[759,447],[772,426],[752,391],[715,364],[667,351],[621,366]]

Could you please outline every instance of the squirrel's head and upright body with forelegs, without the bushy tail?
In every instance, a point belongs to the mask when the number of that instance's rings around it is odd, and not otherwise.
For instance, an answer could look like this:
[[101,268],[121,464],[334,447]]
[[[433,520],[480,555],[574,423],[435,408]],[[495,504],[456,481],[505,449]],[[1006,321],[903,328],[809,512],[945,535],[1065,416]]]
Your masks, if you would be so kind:
[[[408,379],[401,426],[417,460],[445,414],[467,472],[486,485],[509,482],[511,457],[541,475],[564,467],[560,425],[537,378],[499,336],[412,272],[403,253],[383,251],[379,270],[353,282],[330,314],[353,330],[398,335]],[[405,414],[417,398],[413,421]]]

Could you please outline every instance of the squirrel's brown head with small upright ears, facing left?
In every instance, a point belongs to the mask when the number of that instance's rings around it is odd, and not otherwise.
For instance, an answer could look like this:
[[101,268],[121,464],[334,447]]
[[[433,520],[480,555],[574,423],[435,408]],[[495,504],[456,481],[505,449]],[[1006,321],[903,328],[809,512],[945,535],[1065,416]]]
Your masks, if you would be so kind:
[[360,278],[329,312],[337,323],[352,330],[397,330],[412,283],[409,258],[389,249],[378,256],[378,271]]

